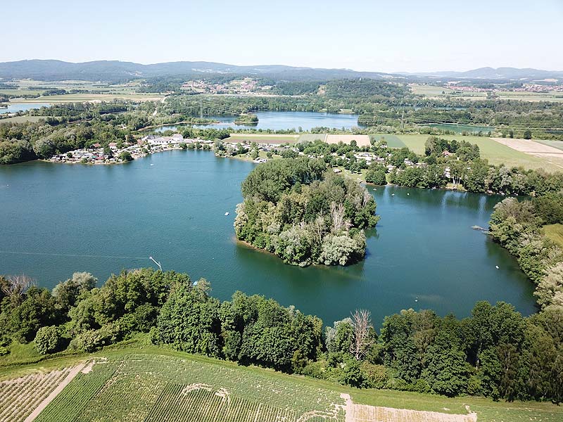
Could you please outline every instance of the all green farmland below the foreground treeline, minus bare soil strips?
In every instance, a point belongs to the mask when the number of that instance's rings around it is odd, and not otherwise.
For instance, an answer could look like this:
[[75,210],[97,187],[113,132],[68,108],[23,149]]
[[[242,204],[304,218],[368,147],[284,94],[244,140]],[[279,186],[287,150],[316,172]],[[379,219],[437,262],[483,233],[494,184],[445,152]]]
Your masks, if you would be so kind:
[[[32,411],[22,411],[24,407],[14,400],[37,406],[46,392],[60,382],[61,376],[52,375],[54,369],[69,371],[72,364],[87,359],[96,362],[91,371],[77,373],[35,421],[344,422],[346,402],[341,393],[351,396],[355,413],[389,407],[443,414],[439,419],[429,419],[417,412],[395,411],[392,419],[381,419],[381,422],[445,422],[448,421],[445,414],[467,414],[466,406],[476,412],[479,422],[563,420],[563,409],[550,403],[507,403],[479,397],[450,399],[415,392],[358,390],[148,345],[49,359],[11,369],[0,366],[2,380],[27,377],[20,387],[13,381],[0,384],[0,395],[10,392],[12,397],[0,397],[0,402],[9,406],[11,400],[12,407],[22,415],[22,419],[11,420],[23,420]],[[34,393],[30,392],[35,397],[18,395],[18,388],[25,388],[31,381],[37,385]],[[9,388],[13,391],[8,391]]]

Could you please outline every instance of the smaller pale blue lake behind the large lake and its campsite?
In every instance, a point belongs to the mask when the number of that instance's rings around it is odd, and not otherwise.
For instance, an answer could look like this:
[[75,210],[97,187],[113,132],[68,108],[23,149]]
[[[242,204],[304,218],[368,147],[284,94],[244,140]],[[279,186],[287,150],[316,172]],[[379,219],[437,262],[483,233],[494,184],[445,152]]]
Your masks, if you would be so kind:
[[[258,116],[258,124],[254,126],[234,124],[235,116],[209,116],[210,119],[218,120],[220,123],[194,124],[194,127],[214,129],[232,127],[234,129],[271,130],[298,130],[299,127],[301,127],[304,131],[309,131],[313,127],[329,127],[331,129],[352,129],[353,127],[358,127],[358,115],[353,114],[314,113],[308,111],[259,111],[253,114]],[[167,124],[166,126],[158,127],[155,131],[181,130],[182,126],[181,124]]]

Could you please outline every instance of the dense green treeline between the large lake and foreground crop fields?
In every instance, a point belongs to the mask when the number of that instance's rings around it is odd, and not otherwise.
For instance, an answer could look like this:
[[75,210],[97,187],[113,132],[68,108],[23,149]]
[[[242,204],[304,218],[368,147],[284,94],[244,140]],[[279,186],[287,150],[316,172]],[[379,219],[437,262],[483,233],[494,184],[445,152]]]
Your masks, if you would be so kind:
[[95,285],[87,273],[52,292],[25,277],[0,278],[0,354],[12,342],[34,342],[42,354],[93,352],[148,333],[157,345],[359,388],[563,399],[557,305],[524,318],[504,302],[478,302],[461,321],[409,309],[386,316],[378,333],[365,310],[325,328],[262,296],[237,292],[221,302],[205,279],[174,271],[122,271]]

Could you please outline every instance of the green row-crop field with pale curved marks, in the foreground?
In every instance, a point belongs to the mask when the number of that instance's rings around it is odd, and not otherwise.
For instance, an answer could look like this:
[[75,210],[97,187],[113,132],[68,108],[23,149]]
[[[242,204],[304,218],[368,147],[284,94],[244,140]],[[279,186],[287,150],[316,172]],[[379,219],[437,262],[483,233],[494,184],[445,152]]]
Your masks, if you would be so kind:
[[337,392],[268,371],[130,354],[79,373],[35,421],[344,422],[343,404]]

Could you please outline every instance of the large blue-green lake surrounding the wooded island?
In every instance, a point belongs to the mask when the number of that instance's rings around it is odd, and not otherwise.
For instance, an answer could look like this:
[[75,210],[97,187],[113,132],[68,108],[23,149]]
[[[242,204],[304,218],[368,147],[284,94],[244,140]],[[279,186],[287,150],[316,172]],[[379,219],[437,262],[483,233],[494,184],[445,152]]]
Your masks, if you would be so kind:
[[409,307],[462,317],[477,300],[534,312],[533,284],[516,260],[471,229],[488,226],[501,197],[369,188],[381,220],[367,233],[365,261],[298,268],[234,240],[240,184],[253,166],[209,151],[125,165],[0,166],[0,274],[25,273],[52,288],[89,271],[101,283],[123,268],[154,266],[152,255],[165,270],[205,277],[222,300],[259,293],[327,324],[356,308],[370,309],[378,327]]

